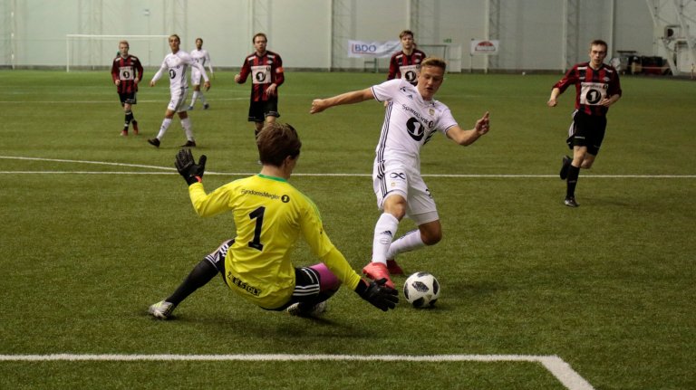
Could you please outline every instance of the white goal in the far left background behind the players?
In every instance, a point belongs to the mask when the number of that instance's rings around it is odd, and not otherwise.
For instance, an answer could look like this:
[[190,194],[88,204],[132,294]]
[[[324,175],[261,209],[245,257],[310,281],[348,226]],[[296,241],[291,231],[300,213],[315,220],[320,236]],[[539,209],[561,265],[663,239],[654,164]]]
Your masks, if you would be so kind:
[[79,69],[96,71],[111,68],[118,55],[119,42],[129,43],[129,53],[140,59],[144,67],[159,65],[169,52],[169,35],[93,35],[69,33],[65,35],[67,60],[65,71]]

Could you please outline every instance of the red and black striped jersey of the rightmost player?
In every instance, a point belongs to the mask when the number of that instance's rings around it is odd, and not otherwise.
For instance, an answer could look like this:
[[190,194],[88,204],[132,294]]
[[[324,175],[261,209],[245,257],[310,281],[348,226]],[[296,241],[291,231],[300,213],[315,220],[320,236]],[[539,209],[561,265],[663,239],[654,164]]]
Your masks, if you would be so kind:
[[590,62],[576,64],[560,81],[554,84],[563,93],[569,86],[575,84],[575,109],[587,115],[606,115],[608,107],[599,105],[604,98],[615,94],[621,96],[619,73],[613,66],[602,64],[594,70]]

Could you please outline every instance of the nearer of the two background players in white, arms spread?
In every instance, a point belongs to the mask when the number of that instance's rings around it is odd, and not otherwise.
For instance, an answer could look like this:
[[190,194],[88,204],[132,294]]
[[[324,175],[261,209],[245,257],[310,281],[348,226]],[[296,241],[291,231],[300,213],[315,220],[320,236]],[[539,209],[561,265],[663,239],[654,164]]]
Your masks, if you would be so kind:
[[189,114],[186,112],[186,98],[189,93],[189,82],[187,81],[189,66],[198,69],[198,71],[203,74],[203,79],[206,81],[204,84],[206,90],[210,89],[210,81],[208,80],[206,70],[200,66],[198,62],[195,62],[188,52],[179,50],[180,44],[181,39],[179,39],[179,35],[173,34],[169,36],[169,48],[171,49],[171,53],[164,57],[160,70],[155,73],[152,77],[152,81],[150,81],[150,87],[154,87],[155,83],[160,80],[160,77],[162,77],[165,71],[169,73],[171,100],[169,100],[167,111],[164,113],[164,120],[162,120],[160,132],[157,134],[157,137],[148,139],[150,145],[154,147],[160,147],[160,141],[167,132],[169,125],[171,125],[171,119],[174,118],[174,113],[179,115],[181,127],[184,128],[184,132],[186,133],[187,141],[182,147],[196,147],[196,140],[193,138],[193,131],[191,130],[191,121],[189,119]]

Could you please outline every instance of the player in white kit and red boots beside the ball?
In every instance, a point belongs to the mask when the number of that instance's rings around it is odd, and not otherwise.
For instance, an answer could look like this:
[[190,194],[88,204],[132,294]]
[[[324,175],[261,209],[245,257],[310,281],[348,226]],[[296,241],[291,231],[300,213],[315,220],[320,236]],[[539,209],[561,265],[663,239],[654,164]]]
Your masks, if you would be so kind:
[[[416,86],[395,79],[312,101],[312,114],[365,100],[388,102],[372,171],[374,193],[382,215],[374,228],[372,262],[362,272],[373,280],[386,278],[392,288],[390,272],[403,273],[394,261],[396,255],[433,245],[442,238],[438,210],[420,176],[420,148],[436,132],[461,146],[468,146],[488,133],[488,112],[476,121],[474,128],[465,130],[459,127],[447,106],[433,99],[444,80],[446,66],[440,58],[428,58],[420,63]],[[394,240],[404,216],[418,224],[418,229]]]

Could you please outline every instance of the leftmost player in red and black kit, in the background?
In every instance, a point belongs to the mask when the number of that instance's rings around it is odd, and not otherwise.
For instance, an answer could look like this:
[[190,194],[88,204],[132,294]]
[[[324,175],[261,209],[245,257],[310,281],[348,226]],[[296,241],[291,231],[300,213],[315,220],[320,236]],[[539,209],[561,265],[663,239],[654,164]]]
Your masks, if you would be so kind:
[[142,80],[142,65],[138,57],[129,55],[128,41],[119,43],[119,56],[111,64],[111,79],[119,92],[121,106],[126,114],[126,122],[121,130],[121,136],[128,135],[128,127],[133,124],[133,134],[138,135],[138,121],[133,117],[132,106],[137,103],[136,92],[138,83]]

